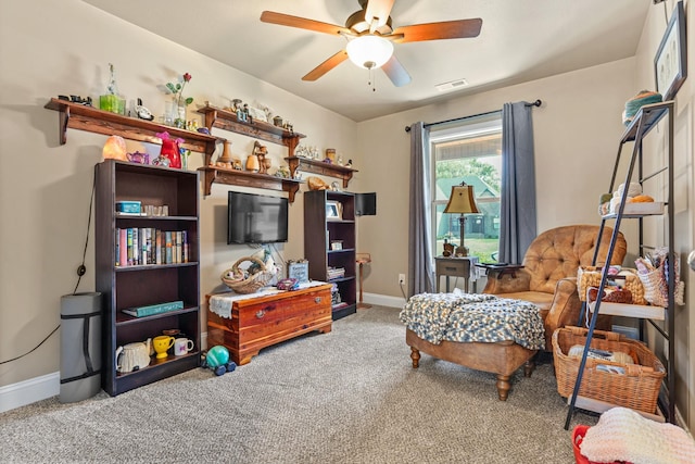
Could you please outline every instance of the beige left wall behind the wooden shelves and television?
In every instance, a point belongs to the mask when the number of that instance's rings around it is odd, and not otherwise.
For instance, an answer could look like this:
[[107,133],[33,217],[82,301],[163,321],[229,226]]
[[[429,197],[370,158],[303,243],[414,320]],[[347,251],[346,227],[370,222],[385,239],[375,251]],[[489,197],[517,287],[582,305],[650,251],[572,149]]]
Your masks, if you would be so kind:
[[[188,72],[193,105],[257,100],[305,134],[305,145],[336,148],[353,158],[355,168],[362,167],[354,122],[78,0],[2,2],[0,63],[0,361],[31,350],[60,323],[60,298],[73,292],[77,281],[93,165],[101,161],[105,141],[70,129],[67,143],[60,146],[59,113],[43,105],[59,93],[103,93],[109,63],[115,65],[121,92],[129,100],[142,98],[156,115],[170,98],[157,85]],[[253,139],[215,134],[232,140],[233,154],[251,152]],[[268,143],[268,149],[274,166],[287,156],[281,146]],[[202,162],[195,153],[189,168]],[[220,284],[224,269],[252,252],[226,243],[229,188],[214,185],[212,196],[201,197],[201,298]],[[302,258],[302,195],[290,209],[290,241],[278,249],[286,259]],[[78,291],[94,289],[93,223],[89,239],[88,271]],[[30,355],[0,365],[0,387],[59,368],[60,331]]]

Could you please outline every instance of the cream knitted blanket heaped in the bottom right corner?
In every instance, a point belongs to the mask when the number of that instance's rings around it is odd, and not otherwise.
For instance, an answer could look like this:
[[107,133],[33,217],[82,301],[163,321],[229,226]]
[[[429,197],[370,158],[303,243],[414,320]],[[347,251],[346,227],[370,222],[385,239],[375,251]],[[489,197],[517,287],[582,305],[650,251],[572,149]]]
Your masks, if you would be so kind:
[[641,464],[692,464],[695,442],[673,424],[660,424],[627,407],[614,407],[589,427],[580,444],[592,462],[628,461]]

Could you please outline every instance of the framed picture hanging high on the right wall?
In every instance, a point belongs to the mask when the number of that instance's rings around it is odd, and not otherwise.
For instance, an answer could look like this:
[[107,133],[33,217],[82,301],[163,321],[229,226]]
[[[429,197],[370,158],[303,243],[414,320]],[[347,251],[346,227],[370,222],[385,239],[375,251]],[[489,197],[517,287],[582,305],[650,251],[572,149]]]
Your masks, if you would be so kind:
[[664,101],[672,100],[687,77],[686,47],[685,12],[683,1],[679,1],[654,58],[656,91]]

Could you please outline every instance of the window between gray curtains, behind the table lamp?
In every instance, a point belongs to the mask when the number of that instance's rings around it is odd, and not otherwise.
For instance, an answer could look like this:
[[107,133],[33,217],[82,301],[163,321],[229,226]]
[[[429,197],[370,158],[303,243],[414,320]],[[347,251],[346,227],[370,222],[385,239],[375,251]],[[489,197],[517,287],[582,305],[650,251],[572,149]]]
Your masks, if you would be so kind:
[[452,186],[473,186],[479,214],[466,214],[464,241],[481,262],[495,261],[500,240],[502,190],[502,112],[460,120],[430,129],[432,153],[433,254],[441,255],[444,240],[459,244],[458,214],[444,214]]

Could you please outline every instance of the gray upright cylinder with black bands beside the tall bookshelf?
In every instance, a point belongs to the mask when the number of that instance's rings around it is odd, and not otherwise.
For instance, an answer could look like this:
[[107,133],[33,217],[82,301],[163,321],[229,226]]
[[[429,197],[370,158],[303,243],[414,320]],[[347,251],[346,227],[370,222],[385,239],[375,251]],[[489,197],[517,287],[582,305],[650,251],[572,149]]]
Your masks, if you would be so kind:
[[61,403],[101,389],[101,293],[61,297]]

